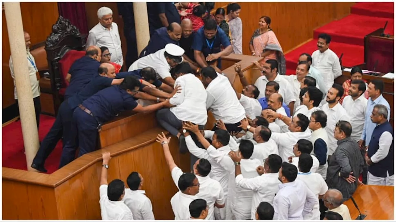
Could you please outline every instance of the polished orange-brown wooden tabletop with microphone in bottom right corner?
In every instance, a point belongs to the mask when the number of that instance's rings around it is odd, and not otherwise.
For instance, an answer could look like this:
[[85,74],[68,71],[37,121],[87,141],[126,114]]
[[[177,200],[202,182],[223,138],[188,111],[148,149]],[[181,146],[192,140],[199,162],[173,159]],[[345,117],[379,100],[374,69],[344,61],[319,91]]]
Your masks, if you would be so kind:
[[[367,215],[365,220],[394,220],[394,186],[358,186],[352,197],[360,212]],[[355,220],[359,212],[352,200],[348,199],[344,204]]]

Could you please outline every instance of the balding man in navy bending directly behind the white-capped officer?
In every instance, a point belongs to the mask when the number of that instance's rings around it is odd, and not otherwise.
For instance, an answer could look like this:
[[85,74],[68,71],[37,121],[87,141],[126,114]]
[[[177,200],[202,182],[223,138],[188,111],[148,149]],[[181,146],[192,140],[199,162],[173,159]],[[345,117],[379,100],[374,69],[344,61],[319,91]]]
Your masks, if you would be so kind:
[[171,23],[166,28],[158,28],[154,31],[152,36],[150,36],[150,41],[145,49],[140,53],[139,58],[155,53],[160,49],[164,49],[165,45],[168,43],[179,45],[181,32],[181,26],[178,23]]

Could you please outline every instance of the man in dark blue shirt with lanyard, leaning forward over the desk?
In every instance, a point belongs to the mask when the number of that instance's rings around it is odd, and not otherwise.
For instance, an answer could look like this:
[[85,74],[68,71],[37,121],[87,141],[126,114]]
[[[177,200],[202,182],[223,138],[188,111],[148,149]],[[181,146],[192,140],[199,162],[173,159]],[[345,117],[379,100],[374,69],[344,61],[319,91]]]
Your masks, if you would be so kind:
[[[224,48],[223,51],[221,47]],[[220,64],[220,57],[228,56],[232,52],[230,40],[214,19],[206,20],[204,27],[198,29],[192,49],[201,68],[212,66],[219,73],[221,70],[217,66]]]

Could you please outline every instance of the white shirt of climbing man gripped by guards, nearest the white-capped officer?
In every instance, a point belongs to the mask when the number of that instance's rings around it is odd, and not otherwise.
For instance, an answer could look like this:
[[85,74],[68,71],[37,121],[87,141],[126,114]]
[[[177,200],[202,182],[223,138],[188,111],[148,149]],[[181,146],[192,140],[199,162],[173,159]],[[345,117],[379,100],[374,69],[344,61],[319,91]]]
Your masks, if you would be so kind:
[[181,86],[181,92],[169,99],[169,103],[175,105],[170,111],[181,121],[191,121],[204,126],[208,120],[207,94],[200,79],[188,73],[178,77],[175,86]]

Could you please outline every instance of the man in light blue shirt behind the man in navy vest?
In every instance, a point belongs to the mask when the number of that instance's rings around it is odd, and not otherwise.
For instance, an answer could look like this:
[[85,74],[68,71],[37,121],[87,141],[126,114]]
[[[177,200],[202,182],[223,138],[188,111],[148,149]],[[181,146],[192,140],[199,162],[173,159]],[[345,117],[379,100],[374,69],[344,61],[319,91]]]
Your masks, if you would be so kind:
[[386,109],[388,109],[388,121],[390,118],[390,105],[388,101],[385,100],[385,98],[382,96],[382,92],[384,90],[384,82],[382,80],[374,79],[372,80],[369,85],[367,86],[367,92],[369,94],[369,100],[367,102],[367,108],[366,108],[366,119],[364,120],[364,127],[363,127],[363,132],[362,136],[360,137],[359,140],[359,146],[360,148],[365,148],[364,143],[366,142],[366,145],[370,143],[371,140],[371,134],[373,134],[375,126],[377,124],[371,122],[371,112],[373,112],[374,105],[382,104],[386,106]]

